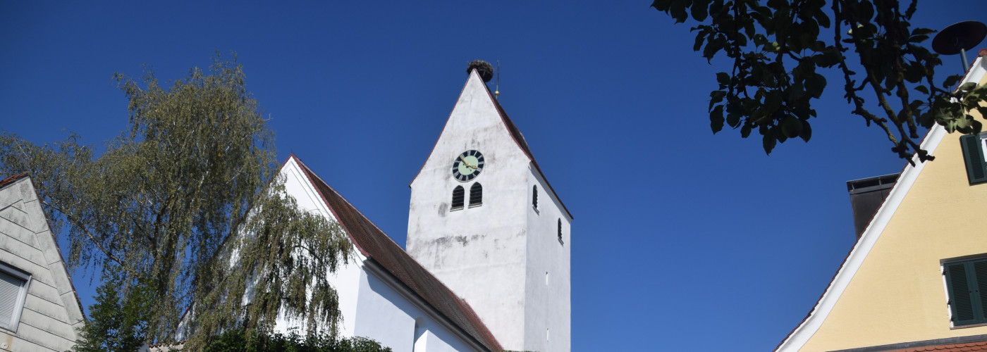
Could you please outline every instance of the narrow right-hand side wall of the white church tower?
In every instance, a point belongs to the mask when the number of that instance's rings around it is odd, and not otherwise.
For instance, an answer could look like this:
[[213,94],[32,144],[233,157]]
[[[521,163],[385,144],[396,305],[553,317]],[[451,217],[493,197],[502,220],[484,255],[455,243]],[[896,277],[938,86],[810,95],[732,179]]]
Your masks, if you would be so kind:
[[[538,187],[538,207],[532,205]],[[525,289],[524,349],[570,350],[569,215],[532,165],[528,173],[528,247]],[[562,243],[559,221],[562,220]]]

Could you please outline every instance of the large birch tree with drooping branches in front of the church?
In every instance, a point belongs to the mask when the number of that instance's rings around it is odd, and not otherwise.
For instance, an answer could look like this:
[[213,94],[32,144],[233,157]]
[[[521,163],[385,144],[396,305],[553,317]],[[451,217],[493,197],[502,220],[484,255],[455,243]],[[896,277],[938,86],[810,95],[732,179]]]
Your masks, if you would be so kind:
[[150,71],[114,77],[129,128],[102,155],[74,134],[50,145],[0,134],[0,175],[32,173],[53,228],[68,229],[70,265],[118,268],[119,302],[148,287],[146,342],[173,339],[192,303],[193,350],[232,326],[267,331],[279,310],[335,332],[328,275],[350,244],[281,196],[273,135],[235,58],[217,55],[168,89]]

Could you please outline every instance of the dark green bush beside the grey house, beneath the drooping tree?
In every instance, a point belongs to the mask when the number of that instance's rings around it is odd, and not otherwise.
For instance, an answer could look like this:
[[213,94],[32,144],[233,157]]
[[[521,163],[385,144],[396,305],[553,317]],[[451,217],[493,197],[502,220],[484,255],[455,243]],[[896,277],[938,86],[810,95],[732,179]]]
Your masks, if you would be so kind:
[[123,295],[122,276],[114,268],[105,271],[103,284],[96,289],[96,304],[89,306],[89,317],[82,328],[76,352],[133,352],[144,344],[154,293],[146,284],[130,287]]

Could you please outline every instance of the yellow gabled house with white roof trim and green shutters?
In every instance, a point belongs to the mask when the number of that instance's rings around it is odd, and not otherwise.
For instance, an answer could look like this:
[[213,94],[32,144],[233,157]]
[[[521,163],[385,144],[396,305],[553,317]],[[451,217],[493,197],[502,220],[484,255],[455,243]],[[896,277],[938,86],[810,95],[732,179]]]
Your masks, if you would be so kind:
[[[984,85],[985,72],[980,56],[962,82]],[[929,131],[936,160],[905,166],[777,351],[987,350],[985,138]]]

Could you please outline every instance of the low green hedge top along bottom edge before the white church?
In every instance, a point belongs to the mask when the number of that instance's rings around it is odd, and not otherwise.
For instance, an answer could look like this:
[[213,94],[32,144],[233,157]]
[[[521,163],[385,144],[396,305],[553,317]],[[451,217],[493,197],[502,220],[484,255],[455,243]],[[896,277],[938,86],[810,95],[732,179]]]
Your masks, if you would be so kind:
[[203,352],[390,352],[391,348],[365,337],[336,338],[317,334],[302,337],[292,331],[284,335],[266,335],[251,330],[233,329],[223,332],[202,350]]

